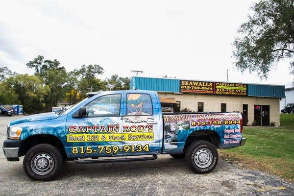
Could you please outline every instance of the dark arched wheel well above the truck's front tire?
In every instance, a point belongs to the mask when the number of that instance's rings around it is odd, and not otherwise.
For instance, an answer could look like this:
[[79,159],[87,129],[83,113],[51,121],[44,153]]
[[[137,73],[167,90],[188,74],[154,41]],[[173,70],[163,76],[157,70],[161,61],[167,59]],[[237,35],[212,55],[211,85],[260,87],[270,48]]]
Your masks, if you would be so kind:
[[19,156],[24,156],[25,153],[31,148],[38,144],[50,144],[57,147],[61,152],[64,159],[67,158],[65,148],[62,142],[53,135],[33,135],[25,139],[20,146]]

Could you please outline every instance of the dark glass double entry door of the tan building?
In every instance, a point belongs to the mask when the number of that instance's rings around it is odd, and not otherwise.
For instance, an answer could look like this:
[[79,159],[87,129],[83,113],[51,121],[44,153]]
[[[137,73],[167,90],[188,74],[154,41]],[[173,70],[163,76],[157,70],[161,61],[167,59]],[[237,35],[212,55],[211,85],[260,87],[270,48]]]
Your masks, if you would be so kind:
[[254,105],[254,122],[258,126],[270,126],[269,105]]

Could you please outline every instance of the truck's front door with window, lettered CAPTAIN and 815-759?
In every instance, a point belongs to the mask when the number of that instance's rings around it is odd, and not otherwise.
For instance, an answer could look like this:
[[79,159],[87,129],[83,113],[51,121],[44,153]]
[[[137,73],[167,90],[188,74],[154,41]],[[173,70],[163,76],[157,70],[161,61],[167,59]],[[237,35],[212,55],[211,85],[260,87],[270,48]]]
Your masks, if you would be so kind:
[[66,123],[67,152],[72,157],[123,155],[122,95],[98,97],[85,105],[87,117],[68,116]]

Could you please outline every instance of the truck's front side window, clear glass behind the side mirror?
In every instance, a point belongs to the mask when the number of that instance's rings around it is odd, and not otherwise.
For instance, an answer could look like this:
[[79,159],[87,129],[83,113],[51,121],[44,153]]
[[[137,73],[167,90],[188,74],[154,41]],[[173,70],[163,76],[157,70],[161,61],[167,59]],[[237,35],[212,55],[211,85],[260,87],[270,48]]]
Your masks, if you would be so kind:
[[86,105],[88,117],[120,116],[121,94],[105,95]]

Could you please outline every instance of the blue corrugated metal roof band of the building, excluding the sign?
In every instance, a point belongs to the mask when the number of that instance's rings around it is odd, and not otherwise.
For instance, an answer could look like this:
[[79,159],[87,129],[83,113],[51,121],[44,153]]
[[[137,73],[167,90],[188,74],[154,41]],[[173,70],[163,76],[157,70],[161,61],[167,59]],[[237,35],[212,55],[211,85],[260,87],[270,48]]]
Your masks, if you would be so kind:
[[268,84],[252,84],[252,83],[239,83],[239,82],[222,82],[222,81],[203,81],[195,79],[178,79],[178,78],[165,78],[165,77],[142,77],[133,76],[130,78],[130,89],[138,90],[151,90],[163,93],[182,94],[180,92],[180,81],[200,81],[200,82],[213,82],[213,83],[234,83],[246,85],[246,96],[251,97],[269,97],[269,98],[284,98],[285,86],[284,85],[268,85]]

